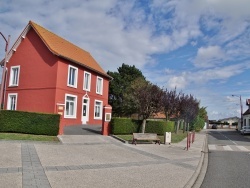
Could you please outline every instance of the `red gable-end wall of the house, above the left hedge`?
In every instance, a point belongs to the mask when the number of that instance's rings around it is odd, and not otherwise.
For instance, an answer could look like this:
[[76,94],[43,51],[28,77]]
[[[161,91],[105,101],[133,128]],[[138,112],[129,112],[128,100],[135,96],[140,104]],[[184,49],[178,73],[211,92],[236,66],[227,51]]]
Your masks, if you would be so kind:
[[[46,62],[46,63],[45,63]],[[20,65],[18,87],[8,87],[10,67]],[[17,110],[54,113],[57,57],[31,29],[7,63],[8,93],[18,92]]]

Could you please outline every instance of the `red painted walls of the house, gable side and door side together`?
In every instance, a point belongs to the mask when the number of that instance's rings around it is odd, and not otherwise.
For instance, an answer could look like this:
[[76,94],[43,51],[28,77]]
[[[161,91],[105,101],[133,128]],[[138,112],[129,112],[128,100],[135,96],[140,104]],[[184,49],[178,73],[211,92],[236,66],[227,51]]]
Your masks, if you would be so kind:
[[[61,118],[61,124],[76,125],[82,124],[82,98],[86,94],[83,90],[84,68],[71,63],[78,68],[77,88],[67,86],[68,64],[65,59],[53,55],[33,29],[27,33],[16,52],[12,55],[7,68],[20,65],[20,76],[18,87],[8,87],[10,71],[7,76],[7,91],[5,97],[5,108],[7,106],[8,93],[18,93],[17,110],[57,113],[57,103],[65,102],[65,93],[77,95],[77,118]],[[103,95],[96,94],[97,74],[91,70],[91,91],[89,122],[88,124],[102,124],[101,120],[94,119],[94,102],[103,101],[103,106],[108,104],[109,80],[103,76]]]

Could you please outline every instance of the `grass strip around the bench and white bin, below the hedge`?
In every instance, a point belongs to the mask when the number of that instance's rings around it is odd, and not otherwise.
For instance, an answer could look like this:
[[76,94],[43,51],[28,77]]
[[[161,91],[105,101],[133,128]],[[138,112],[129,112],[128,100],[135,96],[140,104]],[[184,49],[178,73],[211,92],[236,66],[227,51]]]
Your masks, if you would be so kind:
[[[133,135],[115,135],[115,136],[123,140],[126,140],[129,143],[131,143],[133,140]],[[158,137],[160,138],[161,143],[164,143],[164,136],[158,135]],[[171,133],[171,143],[178,143],[186,137],[187,137],[187,133],[183,133],[182,131],[178,132],[178,134]],[[137,142],[139,143],[140,141],[137,141]]]

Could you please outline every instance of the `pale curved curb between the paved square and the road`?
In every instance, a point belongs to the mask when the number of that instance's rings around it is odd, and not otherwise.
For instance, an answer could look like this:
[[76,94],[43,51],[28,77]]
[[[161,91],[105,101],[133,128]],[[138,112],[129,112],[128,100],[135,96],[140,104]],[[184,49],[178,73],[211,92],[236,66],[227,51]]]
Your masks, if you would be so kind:
[[184,188],[199,188],[204,180],[204,177],[206,175],[207,171],[207,165],[208,165],[208,145],[207,145],[207,133],[204,139],[204,144],[201,151],[201,158],[199,161],[199,164],[192,175],[192,177],[189,179],[187,184]]

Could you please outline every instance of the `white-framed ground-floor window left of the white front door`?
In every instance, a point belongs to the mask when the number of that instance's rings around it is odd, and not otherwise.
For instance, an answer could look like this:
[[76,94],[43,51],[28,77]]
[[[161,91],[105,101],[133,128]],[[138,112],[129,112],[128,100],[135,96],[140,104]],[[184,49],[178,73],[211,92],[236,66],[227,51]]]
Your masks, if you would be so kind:
[[76,118],[76,104],[77,96],[75,95],[65,95],[65,118]]

